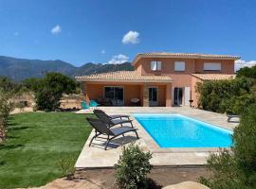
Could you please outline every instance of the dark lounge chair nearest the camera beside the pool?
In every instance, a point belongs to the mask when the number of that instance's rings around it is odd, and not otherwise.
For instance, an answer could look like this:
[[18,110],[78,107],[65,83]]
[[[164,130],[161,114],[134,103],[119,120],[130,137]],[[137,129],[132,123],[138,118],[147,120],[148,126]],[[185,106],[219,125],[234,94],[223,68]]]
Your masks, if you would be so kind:
[[111,140],[115,139],[119,135],[124,136],[124,134],[127,132],[135,132],[138,139],[137,129],[130,128],[130,127],[120,127],[115,129],[109,129],[107,124],[103,123],[100,119],[94,119],[94,118],[86,118],[86,119],[91,124],[91,126],[95,129],[95,135],[91,139],[89,146],[91,146],[93,140],[99,137],[100,135],[107,136],[106,146],[104,148],[105,150]]

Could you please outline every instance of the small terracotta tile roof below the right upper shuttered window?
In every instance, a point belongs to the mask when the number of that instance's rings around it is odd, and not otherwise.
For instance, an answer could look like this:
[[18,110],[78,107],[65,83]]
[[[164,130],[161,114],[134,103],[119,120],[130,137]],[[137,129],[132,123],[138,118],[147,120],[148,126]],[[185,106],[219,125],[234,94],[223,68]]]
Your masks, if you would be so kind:
[[235,77],[233,74],[192,74],[192,76],[202,80],[225,80]]

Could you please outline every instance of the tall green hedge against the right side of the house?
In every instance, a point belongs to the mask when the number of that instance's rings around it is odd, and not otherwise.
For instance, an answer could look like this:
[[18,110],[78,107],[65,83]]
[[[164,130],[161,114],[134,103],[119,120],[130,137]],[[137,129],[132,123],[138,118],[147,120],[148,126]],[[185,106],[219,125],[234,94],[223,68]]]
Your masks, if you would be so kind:
[[255,79],[246,77],[197,83],[198,106],[211,112],[241,114],[256,102],[255,84]]

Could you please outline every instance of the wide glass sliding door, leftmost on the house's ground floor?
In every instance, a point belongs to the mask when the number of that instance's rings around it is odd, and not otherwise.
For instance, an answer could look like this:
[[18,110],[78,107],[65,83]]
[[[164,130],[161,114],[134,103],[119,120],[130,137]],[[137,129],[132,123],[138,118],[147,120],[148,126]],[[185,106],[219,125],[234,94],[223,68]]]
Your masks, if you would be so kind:
[[114,106],[123,106],[123,87],[104,87],[104,98],[109,99]]

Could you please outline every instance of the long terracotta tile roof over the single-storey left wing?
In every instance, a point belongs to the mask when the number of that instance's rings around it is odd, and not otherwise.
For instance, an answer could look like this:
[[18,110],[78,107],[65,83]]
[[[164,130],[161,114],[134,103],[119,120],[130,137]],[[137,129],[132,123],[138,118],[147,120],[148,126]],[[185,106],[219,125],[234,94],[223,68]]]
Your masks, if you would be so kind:
[[168,76],[141,76],[137,71],[119,71],[76,77],[78,81],[171,82]]

